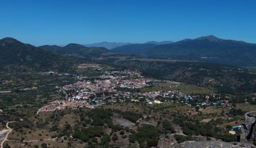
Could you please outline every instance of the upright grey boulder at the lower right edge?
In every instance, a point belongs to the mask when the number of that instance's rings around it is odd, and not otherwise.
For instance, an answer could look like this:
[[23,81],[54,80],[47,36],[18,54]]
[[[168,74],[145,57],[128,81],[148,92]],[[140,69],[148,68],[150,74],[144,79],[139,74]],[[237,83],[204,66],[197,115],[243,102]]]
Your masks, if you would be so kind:
[[256,140],[256,112],[248,112],[245,114],[245,124],[242,125],[240,140],[247,142],[248,140]]

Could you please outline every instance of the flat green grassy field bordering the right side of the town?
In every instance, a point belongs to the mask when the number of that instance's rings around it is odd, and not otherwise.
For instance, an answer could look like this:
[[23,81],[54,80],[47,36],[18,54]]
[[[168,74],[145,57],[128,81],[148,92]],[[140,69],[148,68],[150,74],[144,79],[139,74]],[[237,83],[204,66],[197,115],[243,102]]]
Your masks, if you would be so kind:
[[187,85],[187,84],[181,84],[180,86],[170,86],[176,85],[174,83],[162,83],[158,84],[156,86],[153,86],[151,88],[142,88],[140,91],[174,91],[178,90],[180,92],[183,92],[185,94],[191,94],[191,93],[203,93],[203,94],[209,94],[213,93],[214,91],[212,89],[194,86],[194,85]]

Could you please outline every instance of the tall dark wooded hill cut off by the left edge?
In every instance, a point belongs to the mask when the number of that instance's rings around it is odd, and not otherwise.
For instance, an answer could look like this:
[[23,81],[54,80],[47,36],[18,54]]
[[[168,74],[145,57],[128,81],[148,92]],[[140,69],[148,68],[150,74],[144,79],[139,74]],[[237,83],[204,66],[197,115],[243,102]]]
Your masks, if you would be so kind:
[[69,57],[45,51],[14,38],[0,40],[0,69],[66,69],[72,64]]

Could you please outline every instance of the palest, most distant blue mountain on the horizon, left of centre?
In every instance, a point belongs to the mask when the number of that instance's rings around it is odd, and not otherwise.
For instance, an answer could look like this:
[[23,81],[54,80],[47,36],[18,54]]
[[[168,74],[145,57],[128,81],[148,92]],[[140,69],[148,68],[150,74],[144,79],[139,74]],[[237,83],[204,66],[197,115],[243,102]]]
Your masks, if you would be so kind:
[[131,43],[110,43],[110,42],[100,42],[100,43],[93,43],[93,44],[85,44],[86,47],[105,47],[109,50],[120,47],[123,45],[129,45]]

